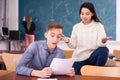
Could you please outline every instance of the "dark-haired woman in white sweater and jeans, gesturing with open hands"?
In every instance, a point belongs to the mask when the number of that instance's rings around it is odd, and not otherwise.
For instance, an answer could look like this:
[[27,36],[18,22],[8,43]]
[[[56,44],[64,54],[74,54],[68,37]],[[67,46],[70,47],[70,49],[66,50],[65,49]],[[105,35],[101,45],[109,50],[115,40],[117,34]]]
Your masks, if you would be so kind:
[[62,39],[70,48],[74,49],[73,58],[76,58],[73,67],[75,73],[80,75],[84,65],[104,66],[108,59],[107,37],[104,26],[98,19],[94,5],[85,2],[79,10],[81,22],[73,26],[71,38]]

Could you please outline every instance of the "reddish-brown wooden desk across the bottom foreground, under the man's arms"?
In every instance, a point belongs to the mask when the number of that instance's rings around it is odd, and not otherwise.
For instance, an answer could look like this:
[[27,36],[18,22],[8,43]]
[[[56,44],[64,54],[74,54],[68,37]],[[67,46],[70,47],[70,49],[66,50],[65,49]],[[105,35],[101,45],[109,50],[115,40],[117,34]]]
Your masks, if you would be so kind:
[[[95,76],[51,76],[51,78],[57,78],[58,80],[120,80],[120,78],[114,77],[95,77]],[[17,75],[15,72],[0,70],[0,80],[37,80],[37,77],[28,77]]]

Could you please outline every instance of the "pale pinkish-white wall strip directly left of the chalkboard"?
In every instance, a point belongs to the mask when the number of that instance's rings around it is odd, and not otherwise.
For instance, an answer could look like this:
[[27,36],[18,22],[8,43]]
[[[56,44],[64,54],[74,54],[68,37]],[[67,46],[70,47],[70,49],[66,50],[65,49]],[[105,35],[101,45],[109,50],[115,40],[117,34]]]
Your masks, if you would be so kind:
[[7,0],[6,8],[6,26],[18,30],[18,0]]

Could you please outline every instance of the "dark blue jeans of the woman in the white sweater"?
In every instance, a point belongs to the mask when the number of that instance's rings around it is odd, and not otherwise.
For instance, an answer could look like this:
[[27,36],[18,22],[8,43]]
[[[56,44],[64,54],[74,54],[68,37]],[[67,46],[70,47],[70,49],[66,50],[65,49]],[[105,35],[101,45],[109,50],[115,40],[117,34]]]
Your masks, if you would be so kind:
[[80,69],[84,65],[96,65],[96,66],[104,66],[108,59],[109,50],[107,47],[99,47],[97,48],[91,56],[79,62],[74,62],[73,67],[75,69],[75,73],[77,75],[81,75]]

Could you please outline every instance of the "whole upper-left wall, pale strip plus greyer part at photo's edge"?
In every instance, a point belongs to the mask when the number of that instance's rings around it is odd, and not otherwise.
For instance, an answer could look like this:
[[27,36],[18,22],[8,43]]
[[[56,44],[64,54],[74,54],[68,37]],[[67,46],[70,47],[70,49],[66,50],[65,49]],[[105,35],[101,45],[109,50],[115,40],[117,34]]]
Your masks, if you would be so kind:
[[0,35],[2,27],[18,30],[18,0],[0,0]]

